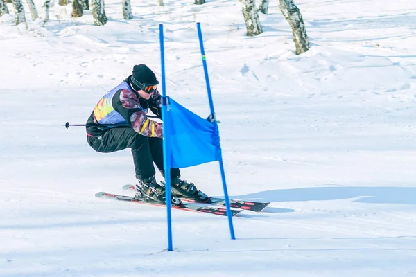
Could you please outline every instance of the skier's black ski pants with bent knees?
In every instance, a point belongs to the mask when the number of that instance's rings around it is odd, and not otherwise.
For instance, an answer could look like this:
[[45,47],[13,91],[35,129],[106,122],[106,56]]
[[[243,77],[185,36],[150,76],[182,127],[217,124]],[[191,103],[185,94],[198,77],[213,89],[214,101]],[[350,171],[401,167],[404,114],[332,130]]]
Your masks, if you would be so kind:
[[[163,139],[149,138],[135,132],[131,127],[108,129],[101,136],[87,136],[88,144],[97,152],[110,153],[131,148],[136,178],[147,179],[155,175],[157,168],[164,176]],[[179,168],[171,168],[171,178],[180,176]]]

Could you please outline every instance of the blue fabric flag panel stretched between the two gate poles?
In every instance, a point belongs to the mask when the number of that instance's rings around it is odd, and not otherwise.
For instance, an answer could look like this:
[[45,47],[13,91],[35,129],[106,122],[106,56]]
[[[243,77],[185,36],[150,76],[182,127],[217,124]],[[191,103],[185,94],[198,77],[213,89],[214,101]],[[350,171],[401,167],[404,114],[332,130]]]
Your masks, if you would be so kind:
[[165,136],[169,139],[171,167],[186,168],[221,159],[218,125],[201,118],[168,97]]

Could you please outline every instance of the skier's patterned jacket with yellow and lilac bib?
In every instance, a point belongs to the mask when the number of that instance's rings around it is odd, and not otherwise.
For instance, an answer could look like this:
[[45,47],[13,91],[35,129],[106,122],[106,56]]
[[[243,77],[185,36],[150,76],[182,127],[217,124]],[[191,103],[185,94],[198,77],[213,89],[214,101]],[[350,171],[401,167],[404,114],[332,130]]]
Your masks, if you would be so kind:
[[150,99],[141,98],[131,89],[129,76],[98,101],[87,120],[87,125],[92,125],[86,127],[87,136],[101,136],[117,125],[129,125],[143,136],[162,138],[162,123],[150,120],[146,116],[148,109],[162,119],[162,96],[156,90]]

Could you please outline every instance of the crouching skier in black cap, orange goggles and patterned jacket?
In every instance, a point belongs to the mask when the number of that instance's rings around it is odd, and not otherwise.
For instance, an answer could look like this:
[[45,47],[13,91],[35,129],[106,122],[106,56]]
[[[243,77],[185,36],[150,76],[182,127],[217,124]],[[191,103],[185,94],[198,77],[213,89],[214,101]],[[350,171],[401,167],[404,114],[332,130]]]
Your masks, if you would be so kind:
[[[87,141],[103,153],[130,148],[138,179],[136,197],[166,202],[165,188],[157,183],[153,165],[154,162],[164,177],[163,124],[146,116],[150,109],[162,119],[162,97],[157,84],[155,73],[148,66],[135,65],[132,75],[108,91],[94,107],[87,120]],[[179,168],[171,168],[171,191],[173,204],[180,203],[174,196],[199,201],[209,198],[194,184],[180,179]]]

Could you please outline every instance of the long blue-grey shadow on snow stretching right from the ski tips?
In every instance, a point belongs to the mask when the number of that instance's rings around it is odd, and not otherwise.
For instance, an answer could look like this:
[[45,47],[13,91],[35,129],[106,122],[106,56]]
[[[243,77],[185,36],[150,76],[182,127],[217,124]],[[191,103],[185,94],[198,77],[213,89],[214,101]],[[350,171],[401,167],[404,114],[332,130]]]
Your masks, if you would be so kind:
[[354,199],[354,202],[374,204],[416,204],[416,187],[320,186],[266,190],[248,195],[233,195],[234,199],[257,199],[264,202],[293,202]]

